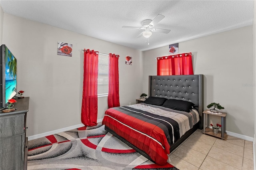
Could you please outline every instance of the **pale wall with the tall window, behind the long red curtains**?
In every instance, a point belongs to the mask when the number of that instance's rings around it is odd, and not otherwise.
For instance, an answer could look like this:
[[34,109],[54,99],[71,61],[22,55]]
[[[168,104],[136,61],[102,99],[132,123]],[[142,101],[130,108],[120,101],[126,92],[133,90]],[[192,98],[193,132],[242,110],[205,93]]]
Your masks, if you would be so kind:
[[[72,57],[57,55],[58,42],[73,44]],[[18,91],[30,97],[27,136],[81,123],[83,52],[94,49],[119,58],[120,105],[142,93],[142,52],[4,13],[3,43],[17,58]],[[126,55],[132,65],[125,64]],[[136,82],[136,83],[135,83]],[[98,119],[107,98],[98,100]]]

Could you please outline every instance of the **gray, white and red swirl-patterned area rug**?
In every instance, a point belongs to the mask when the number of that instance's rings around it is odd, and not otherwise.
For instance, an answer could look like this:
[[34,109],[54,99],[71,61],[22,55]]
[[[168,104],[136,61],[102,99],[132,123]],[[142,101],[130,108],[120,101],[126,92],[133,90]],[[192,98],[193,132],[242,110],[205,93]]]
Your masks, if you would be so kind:
[[104,129],[82,127],[28,141],[28,170],[178,170],[154,164]]

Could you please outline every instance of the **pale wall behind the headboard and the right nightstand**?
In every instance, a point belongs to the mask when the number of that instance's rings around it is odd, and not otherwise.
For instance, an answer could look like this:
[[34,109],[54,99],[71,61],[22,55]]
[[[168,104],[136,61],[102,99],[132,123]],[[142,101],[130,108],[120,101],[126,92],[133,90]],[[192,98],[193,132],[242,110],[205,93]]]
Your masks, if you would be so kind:
[[[194,74],[204,75],[204,109],[220,103],[227,112],[226,130],[254,136],[252,26],[179,42],[179,53],[194,53]],[[156,57],[170,55],[168,46],[144,52],[143,92],[148,75],[156,75]],[[247,85],[247,86],[246,86]],[[221,123],[212,117],[213,123]]]

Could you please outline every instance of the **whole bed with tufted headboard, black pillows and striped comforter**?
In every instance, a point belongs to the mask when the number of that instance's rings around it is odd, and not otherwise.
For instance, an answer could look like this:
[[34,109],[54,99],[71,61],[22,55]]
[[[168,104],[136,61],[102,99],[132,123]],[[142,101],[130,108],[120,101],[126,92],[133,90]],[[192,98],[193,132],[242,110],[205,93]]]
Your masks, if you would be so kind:
[[203,75],[149,76],[143,103],[110,108],[102,124],[114,136],[156,164],[196,129],[202,129]]

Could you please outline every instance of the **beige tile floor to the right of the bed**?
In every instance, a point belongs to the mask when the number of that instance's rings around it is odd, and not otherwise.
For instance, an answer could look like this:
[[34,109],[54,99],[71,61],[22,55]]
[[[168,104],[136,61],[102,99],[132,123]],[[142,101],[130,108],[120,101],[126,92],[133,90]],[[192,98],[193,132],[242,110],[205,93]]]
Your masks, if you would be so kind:
[[221,140],[197,130],[170,155],[180,170],[253,170],[252,142],[228,136]]

